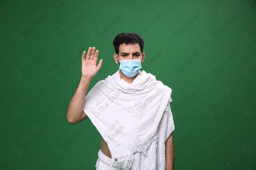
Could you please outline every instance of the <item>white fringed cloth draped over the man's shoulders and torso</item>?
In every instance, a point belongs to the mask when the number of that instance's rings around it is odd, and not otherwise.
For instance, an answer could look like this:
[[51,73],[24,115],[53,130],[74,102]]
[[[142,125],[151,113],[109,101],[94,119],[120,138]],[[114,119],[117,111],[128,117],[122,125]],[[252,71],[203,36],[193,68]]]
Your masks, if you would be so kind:
[[165,169],[165,141],[174,131],[172,89],[144,70],[129,84],[119,70],[86,95],[88,115],[120,169]]

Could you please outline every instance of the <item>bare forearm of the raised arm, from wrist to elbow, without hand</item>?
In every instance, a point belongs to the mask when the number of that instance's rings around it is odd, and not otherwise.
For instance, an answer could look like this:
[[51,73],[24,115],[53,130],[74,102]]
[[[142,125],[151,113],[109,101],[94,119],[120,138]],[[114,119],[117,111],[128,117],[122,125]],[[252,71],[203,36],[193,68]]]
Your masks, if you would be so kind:
[[86,98],[87,90],[92,78],[81,77],[80,82],[76,88],[74,95],[69,103],[67,112],[67,119],[70,123],[78,122],[84,106],[84,99]]

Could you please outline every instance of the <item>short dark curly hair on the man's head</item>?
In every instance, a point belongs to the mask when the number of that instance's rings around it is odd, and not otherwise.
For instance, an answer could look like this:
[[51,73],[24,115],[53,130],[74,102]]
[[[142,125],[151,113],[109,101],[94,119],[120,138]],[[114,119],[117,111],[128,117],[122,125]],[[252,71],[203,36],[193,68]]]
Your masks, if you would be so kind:
[[138,43],[140,45],[141,54],[143,52],[144,40],[139,34],[136,34],[136,33],[120,33],[120,34],[118,34],[113,41],[113,45],[114,45],[116,54],[119,54],[119,45],[122,43],[125,43],[125,44]]

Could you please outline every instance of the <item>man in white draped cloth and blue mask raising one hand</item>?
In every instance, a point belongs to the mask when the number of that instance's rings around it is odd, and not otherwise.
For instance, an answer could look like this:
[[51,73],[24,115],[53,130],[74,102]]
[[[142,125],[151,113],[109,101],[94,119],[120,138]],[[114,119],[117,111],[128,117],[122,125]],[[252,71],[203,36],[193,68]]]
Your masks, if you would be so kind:
[[102,59],[96,66],[99,51],[95,47],[89,47],[86,58],[83,52],[82,76],[69,104],[68,122],[76,124],[90,117],[102,135],[97,169],[174,169],[172,90],[140,71],[145,53],[138,34],[118,34],[113,44],[119,70],[88,94]]

